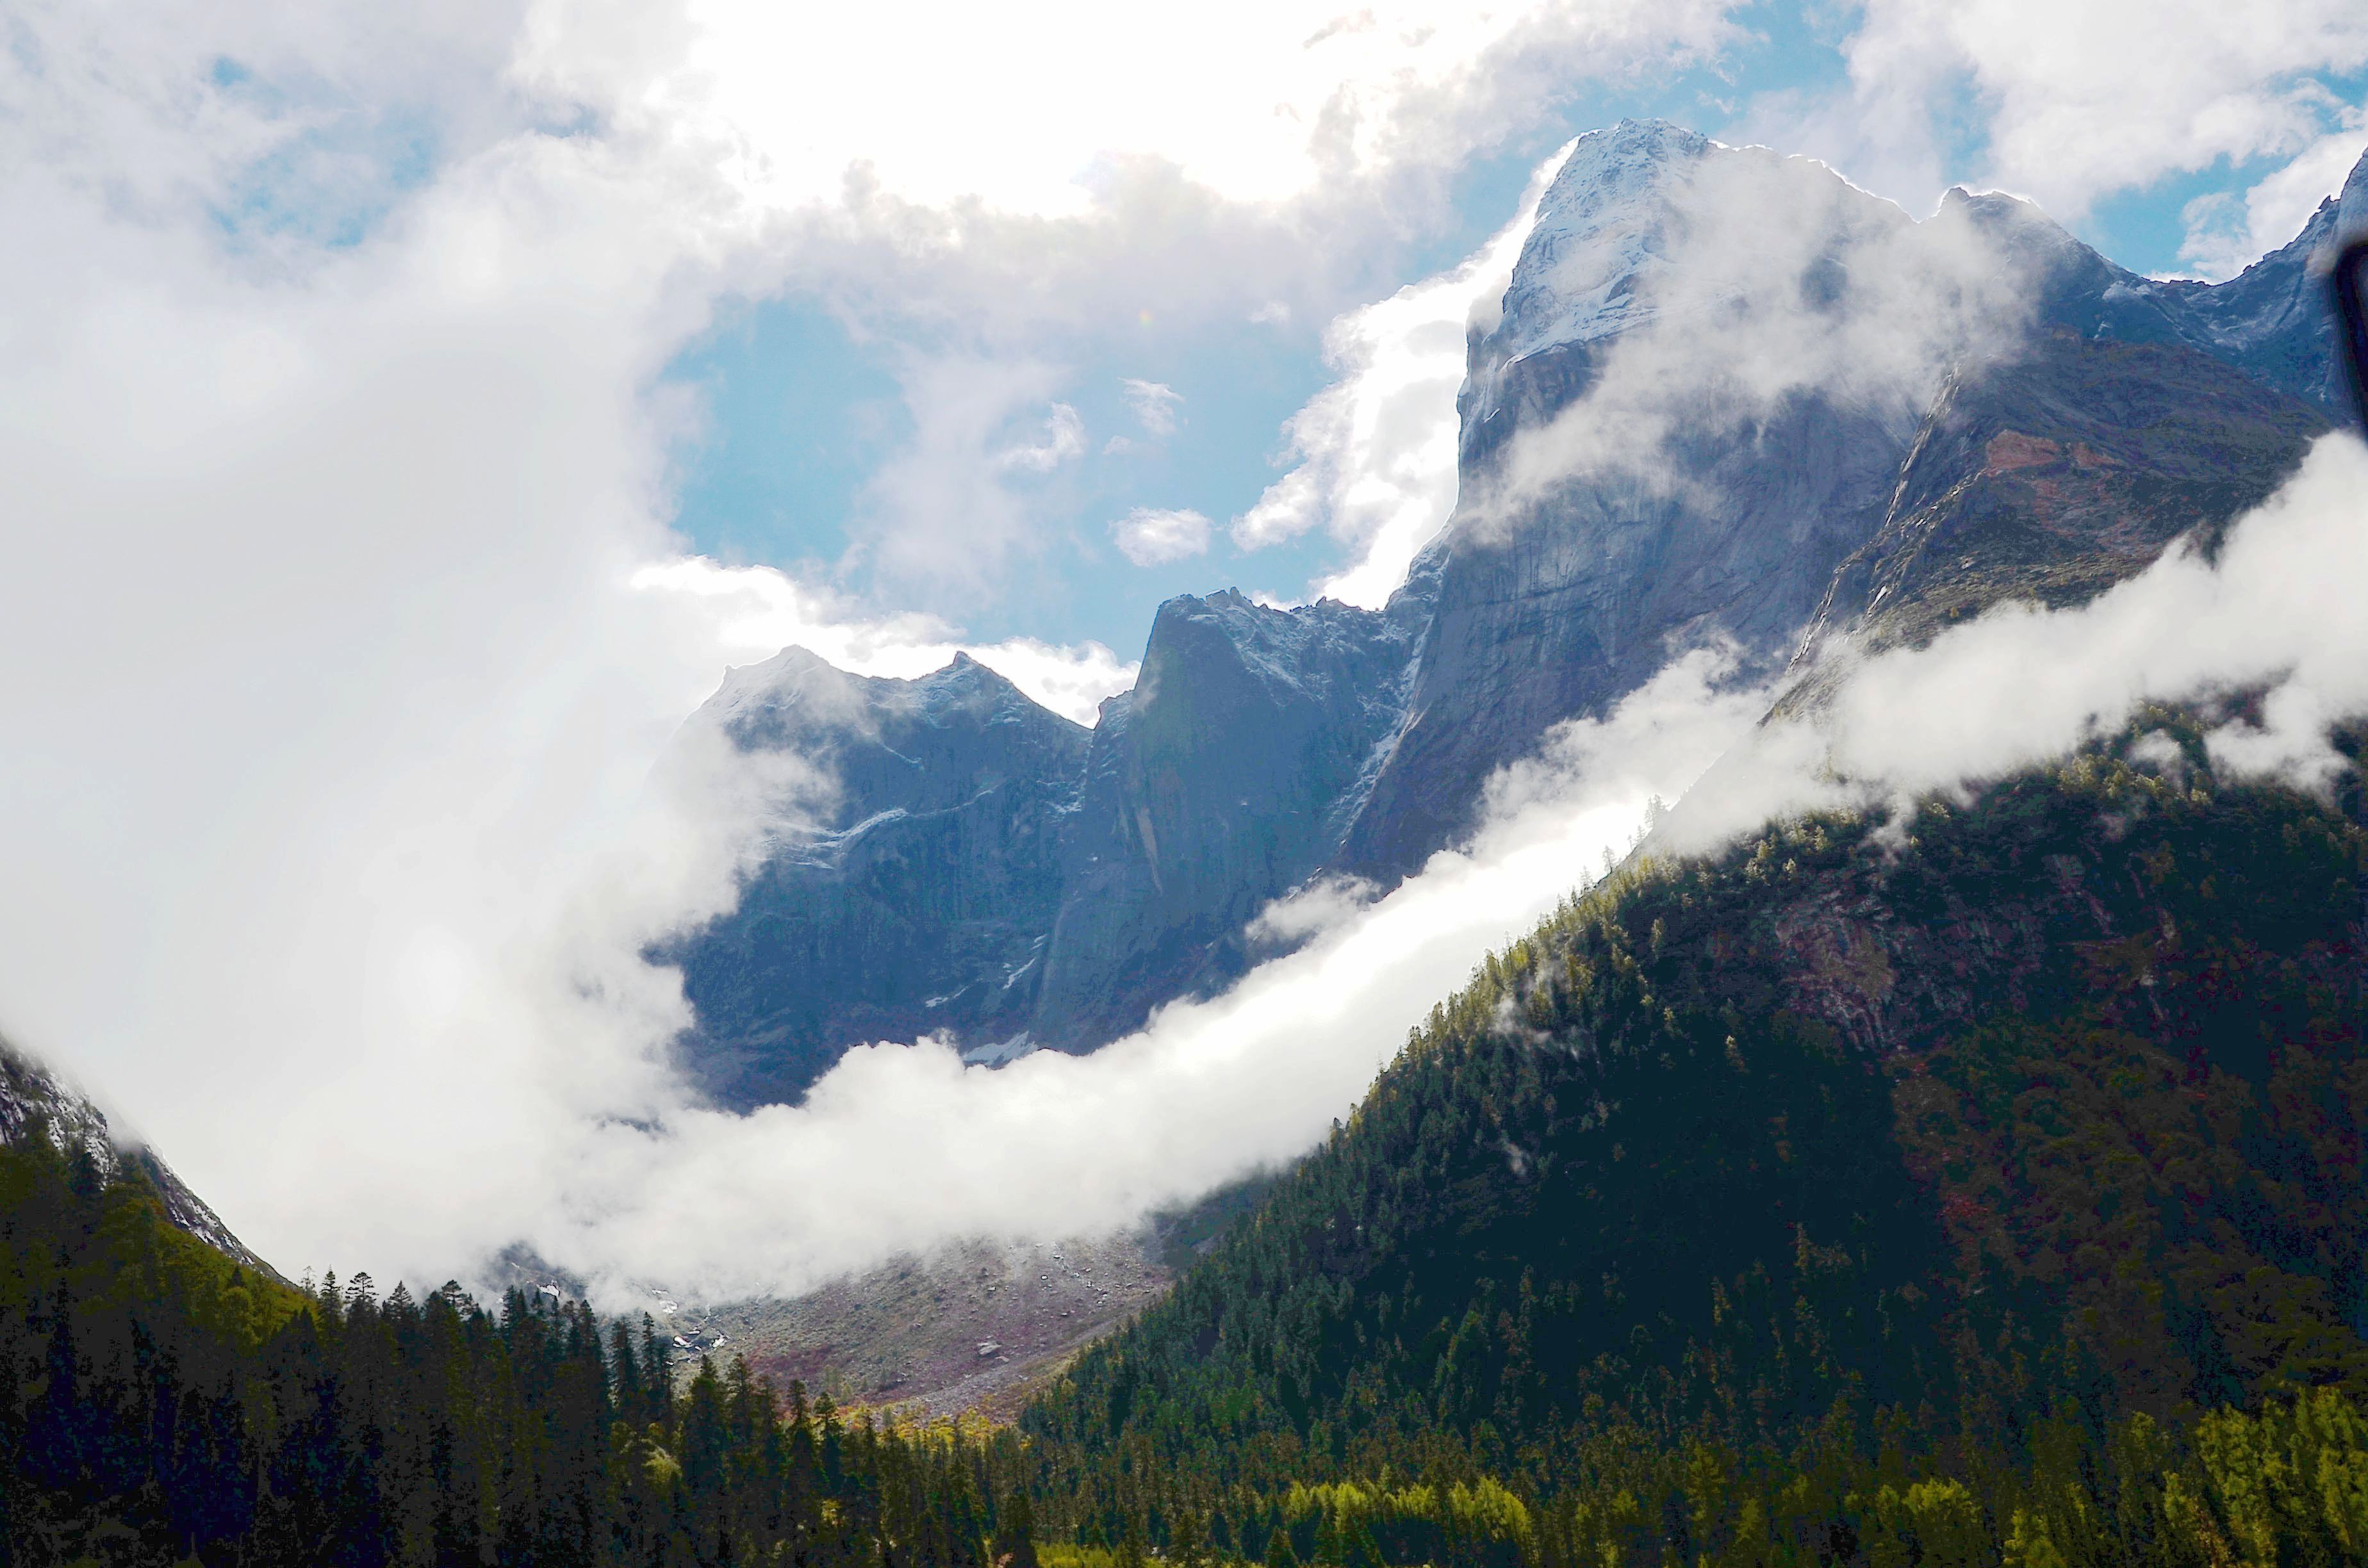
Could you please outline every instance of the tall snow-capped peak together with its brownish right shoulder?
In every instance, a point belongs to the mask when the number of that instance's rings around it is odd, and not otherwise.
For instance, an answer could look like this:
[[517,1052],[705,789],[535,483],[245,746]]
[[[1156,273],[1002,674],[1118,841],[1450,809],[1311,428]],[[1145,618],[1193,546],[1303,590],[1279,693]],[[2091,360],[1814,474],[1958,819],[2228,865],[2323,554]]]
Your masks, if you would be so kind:
[[[1729,220],[1722,244],[1705,244],[1703,192],[1750,223]],[[2368,206],[2368,159],[2347,192]],[[2318,410],[2335,396],[2306,268],[2335,225],[2330,201],[2242,277],[2164,284],[2010,197],[1951,192],[1918,230],[1804,159],[1662,123],[1582,137],[1539,206],[1501,320],[1473,334],[1437,609],[1343,865],[1404,876],[1471,831],[1489,772],[1556,722],[1603,713],[1679,647],[1729,637],[1743,673],[1759,675],[1802,647],[1804,628],[1819,647],[1835,630],[1916,640],[2003,595],[2079,599],[2179,533],[2259,502],[2325,429]],[[1925,391],[1923,367],[1885,381],[1845,362],[1750,417],[1710,417],[1722,377],[1767,369],[1750,360],[1748,317],[1748,291],[1767,279],[1743,268],[1705,289],[1686,268],[1722,265],[1717,251],[1759,230],[1788,234],[1764,249],[1795,289],[1781,303],[1812,324],[1804,348],[1887,310],[1892,336],[1958,343],[1946,374]],[[1606,377],[1636,334],[1681,336],[1667,327],[1684,310],[1703,322],[1695,358],[1624,369],[1648,391],[1653,374],[1691,377],[1710,415],[1679,398],[1639,424],[1634,398],[1606,391]],[[1946,310],[1968,315],[1954,339],[1935,332]],[[2020,332],[1980,332],[2008,313]],[[1534,469],[1542,441],[1584,450],[1636,431],[1655,443],[1648,460],[1572,460],[1561,483],[1530,481],[1504,505],[1506,474]]]

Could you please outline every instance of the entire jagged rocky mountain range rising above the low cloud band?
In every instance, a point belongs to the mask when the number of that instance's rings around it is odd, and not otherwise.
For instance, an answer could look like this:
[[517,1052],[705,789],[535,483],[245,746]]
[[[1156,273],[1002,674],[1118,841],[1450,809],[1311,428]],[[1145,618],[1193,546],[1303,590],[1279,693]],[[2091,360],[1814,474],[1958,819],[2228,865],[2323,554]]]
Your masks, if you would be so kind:
[[[1463,500],[1383,611],[1175,599],[1092,732],[971,661],[895,682],[793,649],[734,673],[710,718],[841,796],[670,950],[699,1011],[684,1063],[746,1106],[864,1040],[1094,1049],[1234,981],[1267,900],[1328,874],[1390,886],[1459,843],[1494,770],[1684,647],[1731,640],[1767,675],[2003,597],[2079,602],[2214,538],[2325,429],[2309,261],[2351,220],[2368,161],[2242,277],[2157,282],[2010,197],[1951,192],[1918,225],[1804,159],[1662,123],[1582,137],[1473,327]],[[1913,336],[1956,310],[1961,332],[1887,377],[1835,355],[1740,415],[1714,388],[1767,367],[1695,332],[1707,360],[1658,367],[1679,417],[1539,483],[1546,443],[1622,433],[1606,386],[1639,346],[1759,282],[1719,272],[1722,223],[1769,239],[1804,351],[1852,332],[1883,351],[1868,322],[1892,317]]]

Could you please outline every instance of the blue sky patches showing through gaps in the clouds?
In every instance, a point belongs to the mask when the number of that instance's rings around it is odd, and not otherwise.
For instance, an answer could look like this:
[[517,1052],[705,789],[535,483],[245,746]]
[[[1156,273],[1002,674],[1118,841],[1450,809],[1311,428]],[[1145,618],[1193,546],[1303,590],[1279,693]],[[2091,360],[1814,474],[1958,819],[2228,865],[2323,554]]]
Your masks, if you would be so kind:
[[[1518,135],[1447,168],[1421,211],[1395,213],[1388,244],[1376,246],[1373,265],[1338,303],[1357,303],[1357,287],[1378,298],[1454,265],[1511,218],[1542,156],[1622,116],[1662,116],[1724,140],[1828,156],[1918,216],[1949,182],[1991,182],[1996,95],[1984,99],[1973,76],[1937,78],[1923,102],[1920,147],[1894,159],[1880,144],[1847,144],[1816,114],[1852,92],[1845,50],[1861,33],[1859,12],[1752,5],[1729,21],[1729,40],[1712,54],[1615,81],[1579,76]],[[2316,83],[2328,133],[2342,130],[2349,104],[2368,99],[2361,71],[2290,73],[2280,88],[2292,95],[2297,83]],[[2134,270],[2193,272],[2186,251],[2198,201],[2240,199],[2287,161],[2280,147],[2195,168],[2141,166],[2134,178],[2081,192],[2060,216]],[[864,542],[881,521],[874,483],[909,460],[914,443],[905,367],[928,358],[928,339],[942,334],[933,327],[916,341],[855,320],[860,313],[826,298],[829,282],[807,287],[796,270],[767,282],[762,296],[727,301],[668,365],[670,381],[696,388],[706,417],[677,452],[675,526],[694,550],[727,564],[784,566],[876,604],[912,597],[912,583],[871,571]],[[1307,315],[1201,317],[1165,329],[1148,315],[1113,313],[1032,343],[1054,365],[1051,388],[1014,407],[1006,433],[1023,438],[1049,403],[1061,403],[1082,424],[1082,452],[1021,497],[1030,540],[1006,571],[954,592],[921,592],[921,606],[978,640],[1099,640],[1132,656],[1153,606],[1170,595],[1238,585],[1298,597],[1347,566],[1357,540],[1324,531],[1255,552],[1224,533],[1288,467],[1283,422],[1331,381],[1321,329],[1324,320]],[[1130,379],[1177,393],[1172,433],[1141,429],[1122,393]],[[1108,450],[1113,441],[1118,450]],[[1130,561],[1108,531],[1137,507],[1203,514],[1212,523],[1208,552]]]

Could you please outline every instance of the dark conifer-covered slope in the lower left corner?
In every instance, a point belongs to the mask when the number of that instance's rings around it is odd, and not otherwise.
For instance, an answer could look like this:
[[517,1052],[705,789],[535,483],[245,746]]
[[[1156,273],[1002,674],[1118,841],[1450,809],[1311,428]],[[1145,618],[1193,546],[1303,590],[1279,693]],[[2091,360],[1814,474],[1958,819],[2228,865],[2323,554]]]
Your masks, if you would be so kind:
[[[848,1426],[585,1305],[313,1296],[0,1151],[0,1563],[1032,1568],[1016,1445]],[[997,1506],[1004,1502],[1006,1506]]]

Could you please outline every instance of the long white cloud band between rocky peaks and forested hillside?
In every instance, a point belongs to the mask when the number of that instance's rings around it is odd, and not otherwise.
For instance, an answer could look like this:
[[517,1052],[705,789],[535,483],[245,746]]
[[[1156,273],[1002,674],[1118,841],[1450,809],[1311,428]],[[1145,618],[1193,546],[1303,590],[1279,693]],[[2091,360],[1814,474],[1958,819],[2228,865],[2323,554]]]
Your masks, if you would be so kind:
[[2001,777],[2141,701],[2238,689],[2269,692],[2264,722],[2216,730],[2214,760],[2321,786],[2340,765],[2328,722],[2368,711],[2363,495],[2368,450],[2321,441],[2219,561],[2176,552],[2089,606],[2010,606],[1864,661],[1812,722],[1762,727],[1774,689],[1722,680],[1719,649],[1686,651],[1501,775],[1468,848],[1388,898],[1319,888],[1269,914],[1319,936],[1234,992],[1085,1059],[985,1071],[935,1042],[876,1045],[805,1106],[606,1123],[568,1146],[566,1213],[535,1241],[611,1281],[744,1293],[961,1236],[1130,1225],[1319,1139],[1487,947],[1636,841],[1653,796],[1679,801],[1655,843],[1700,853],[1776,815]]

